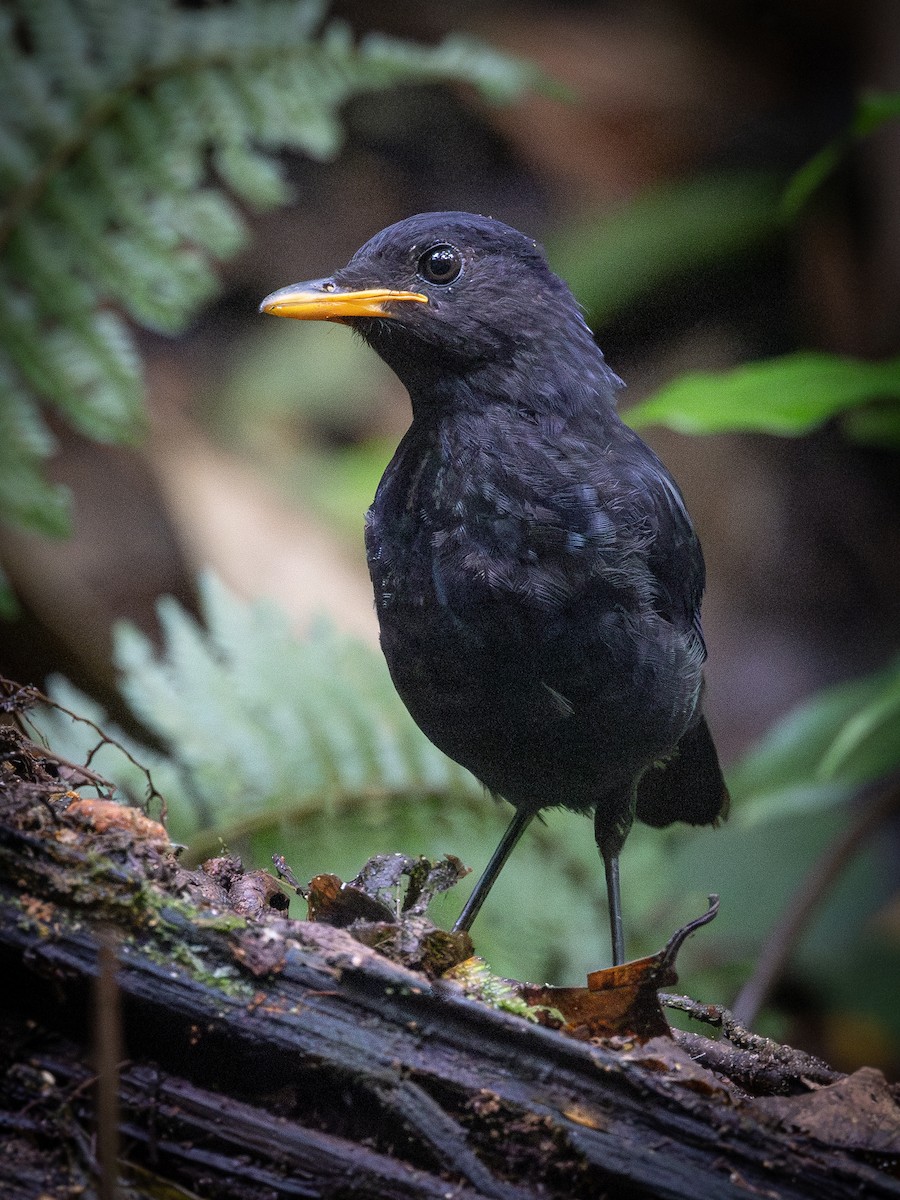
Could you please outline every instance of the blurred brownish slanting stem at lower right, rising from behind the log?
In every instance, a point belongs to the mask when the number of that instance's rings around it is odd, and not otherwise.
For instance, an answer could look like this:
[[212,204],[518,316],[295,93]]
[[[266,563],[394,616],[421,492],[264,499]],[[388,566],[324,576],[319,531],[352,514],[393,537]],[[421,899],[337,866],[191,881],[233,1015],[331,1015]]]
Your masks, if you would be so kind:
[[898,810],[900,810],[900,785],[894,782],[887,791],[876,793],[872,799],[859,806],[850,827],[834,839],[814,864],[769,935],[752,976],[734,1001],[734,1016],[742,1025],[752,1025],[756,1020],[810,918],[834,881],[878,826]]

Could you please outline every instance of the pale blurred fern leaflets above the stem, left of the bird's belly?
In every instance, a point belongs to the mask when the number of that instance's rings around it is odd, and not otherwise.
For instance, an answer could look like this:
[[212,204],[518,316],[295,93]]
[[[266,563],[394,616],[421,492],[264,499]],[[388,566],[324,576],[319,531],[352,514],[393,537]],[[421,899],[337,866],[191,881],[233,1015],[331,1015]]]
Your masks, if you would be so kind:
[[323,623],[300,641],[271,605],[212,578],[200,593],[205,630],[167,599],[162,655],[122,625],[115,658],[133,712],[223,836],[280,804],[296,816],[366,793],[475,788],[413,725],[377,650]]

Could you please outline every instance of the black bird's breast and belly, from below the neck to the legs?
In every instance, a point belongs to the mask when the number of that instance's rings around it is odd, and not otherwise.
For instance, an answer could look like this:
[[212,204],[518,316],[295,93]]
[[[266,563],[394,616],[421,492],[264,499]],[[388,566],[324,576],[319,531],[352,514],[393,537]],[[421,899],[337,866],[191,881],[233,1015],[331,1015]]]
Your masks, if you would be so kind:
[[408,436],[367,518],[397,690],[514,803],[557,761],[566,803],[593,803],[601,761],[608,781],[632,778],[697,700],[700,661],[654,610],[641,512],[605,504],[576,466],[571,480],[533,443]]

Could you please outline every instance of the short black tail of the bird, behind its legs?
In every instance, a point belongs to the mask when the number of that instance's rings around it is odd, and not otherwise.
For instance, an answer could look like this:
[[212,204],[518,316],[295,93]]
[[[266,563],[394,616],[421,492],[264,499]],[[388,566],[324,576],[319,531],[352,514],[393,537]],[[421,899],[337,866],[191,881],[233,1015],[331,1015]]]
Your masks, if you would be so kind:
[[718,824],[728,815],[728,788],[706,718],[682,737],[665,762],[649,768],[637,785],[636,816],[644,824]]

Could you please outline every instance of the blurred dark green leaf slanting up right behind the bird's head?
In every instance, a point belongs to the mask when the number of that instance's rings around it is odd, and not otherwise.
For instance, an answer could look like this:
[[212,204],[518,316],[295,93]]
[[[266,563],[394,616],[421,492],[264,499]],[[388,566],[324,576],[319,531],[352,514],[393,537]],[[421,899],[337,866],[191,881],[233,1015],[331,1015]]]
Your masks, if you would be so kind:
[[768,172],[668,184],[554,234],[547,254],[595,324],[666,280],[778,234],[780,190],[780,178]]

